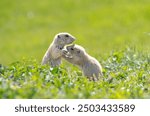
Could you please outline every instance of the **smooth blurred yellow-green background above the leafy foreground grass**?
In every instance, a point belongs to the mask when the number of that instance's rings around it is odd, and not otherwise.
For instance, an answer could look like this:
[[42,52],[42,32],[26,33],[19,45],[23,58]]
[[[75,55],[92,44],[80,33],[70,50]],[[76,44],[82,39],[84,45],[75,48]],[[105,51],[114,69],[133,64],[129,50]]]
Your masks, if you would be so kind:
[[41,61],[55,34],[69,32],[95,57],[150,51],[150,0],[0,0],[0,64]]

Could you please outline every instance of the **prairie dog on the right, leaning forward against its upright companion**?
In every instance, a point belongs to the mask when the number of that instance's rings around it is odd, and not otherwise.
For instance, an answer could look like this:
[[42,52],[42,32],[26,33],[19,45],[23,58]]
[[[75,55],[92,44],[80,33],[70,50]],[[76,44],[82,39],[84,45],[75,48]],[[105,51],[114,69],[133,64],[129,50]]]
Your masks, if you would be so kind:
[[79,45],[69,45],[63,50],[63,58],[81,68],[84,76],[97,81],[103,75],[100,63]]

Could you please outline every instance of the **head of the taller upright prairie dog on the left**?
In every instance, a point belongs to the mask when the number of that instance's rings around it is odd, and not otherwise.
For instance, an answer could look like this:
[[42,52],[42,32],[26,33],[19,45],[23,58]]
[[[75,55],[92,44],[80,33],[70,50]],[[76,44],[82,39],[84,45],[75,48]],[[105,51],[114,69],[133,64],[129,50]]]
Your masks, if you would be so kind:
[[54,43],[62,47],[67,44],[71,44],[73,41],[75,41],[75,37],[66,32],[58,33],[54,38]]

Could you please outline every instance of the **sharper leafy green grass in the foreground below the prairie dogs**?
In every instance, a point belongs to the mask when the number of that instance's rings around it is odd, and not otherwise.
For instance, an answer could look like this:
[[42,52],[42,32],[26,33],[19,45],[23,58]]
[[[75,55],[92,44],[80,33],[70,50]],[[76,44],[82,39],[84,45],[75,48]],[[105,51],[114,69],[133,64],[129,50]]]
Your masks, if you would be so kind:
[[126,49],[102,65],[98,82],[73,67],[52,69],[33,59],[1,66],[0,98],[150,98],[150,56]]

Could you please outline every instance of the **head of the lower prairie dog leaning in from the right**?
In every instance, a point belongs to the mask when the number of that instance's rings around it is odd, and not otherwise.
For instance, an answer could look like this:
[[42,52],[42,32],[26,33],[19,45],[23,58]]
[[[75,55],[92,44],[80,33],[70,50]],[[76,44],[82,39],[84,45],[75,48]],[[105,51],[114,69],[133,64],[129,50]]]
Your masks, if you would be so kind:
[[86,52],[85,49],[79,45],[73,44],[66,47],[69,57],[75,64],[81,64],[84,61]]

